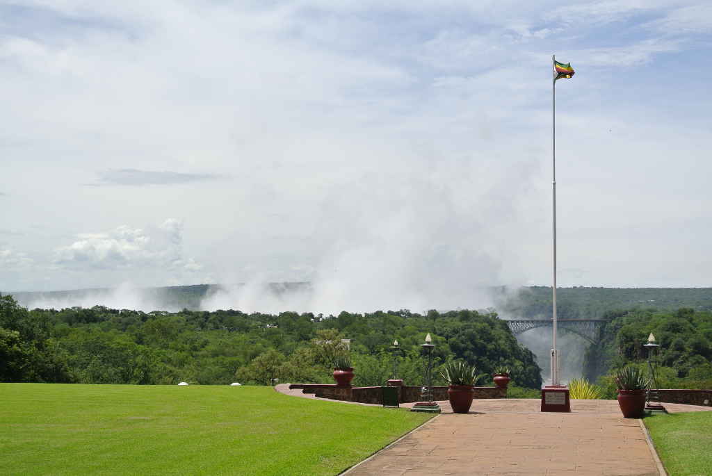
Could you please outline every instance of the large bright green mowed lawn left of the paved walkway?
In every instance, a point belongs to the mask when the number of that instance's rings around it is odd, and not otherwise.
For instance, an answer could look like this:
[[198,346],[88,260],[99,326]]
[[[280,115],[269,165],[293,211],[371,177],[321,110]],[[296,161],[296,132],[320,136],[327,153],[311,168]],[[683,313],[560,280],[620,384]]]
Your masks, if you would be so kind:
[[335,475],[428,418],[269,387],[0,384],[0,474]]

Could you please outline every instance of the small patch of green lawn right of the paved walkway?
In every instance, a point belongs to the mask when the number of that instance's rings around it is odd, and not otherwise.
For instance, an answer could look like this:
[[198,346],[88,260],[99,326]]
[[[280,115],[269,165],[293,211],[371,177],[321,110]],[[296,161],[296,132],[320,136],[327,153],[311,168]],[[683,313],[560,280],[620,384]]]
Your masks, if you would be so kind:
[[644,419],[670,476],[712,475],[712,411]]

